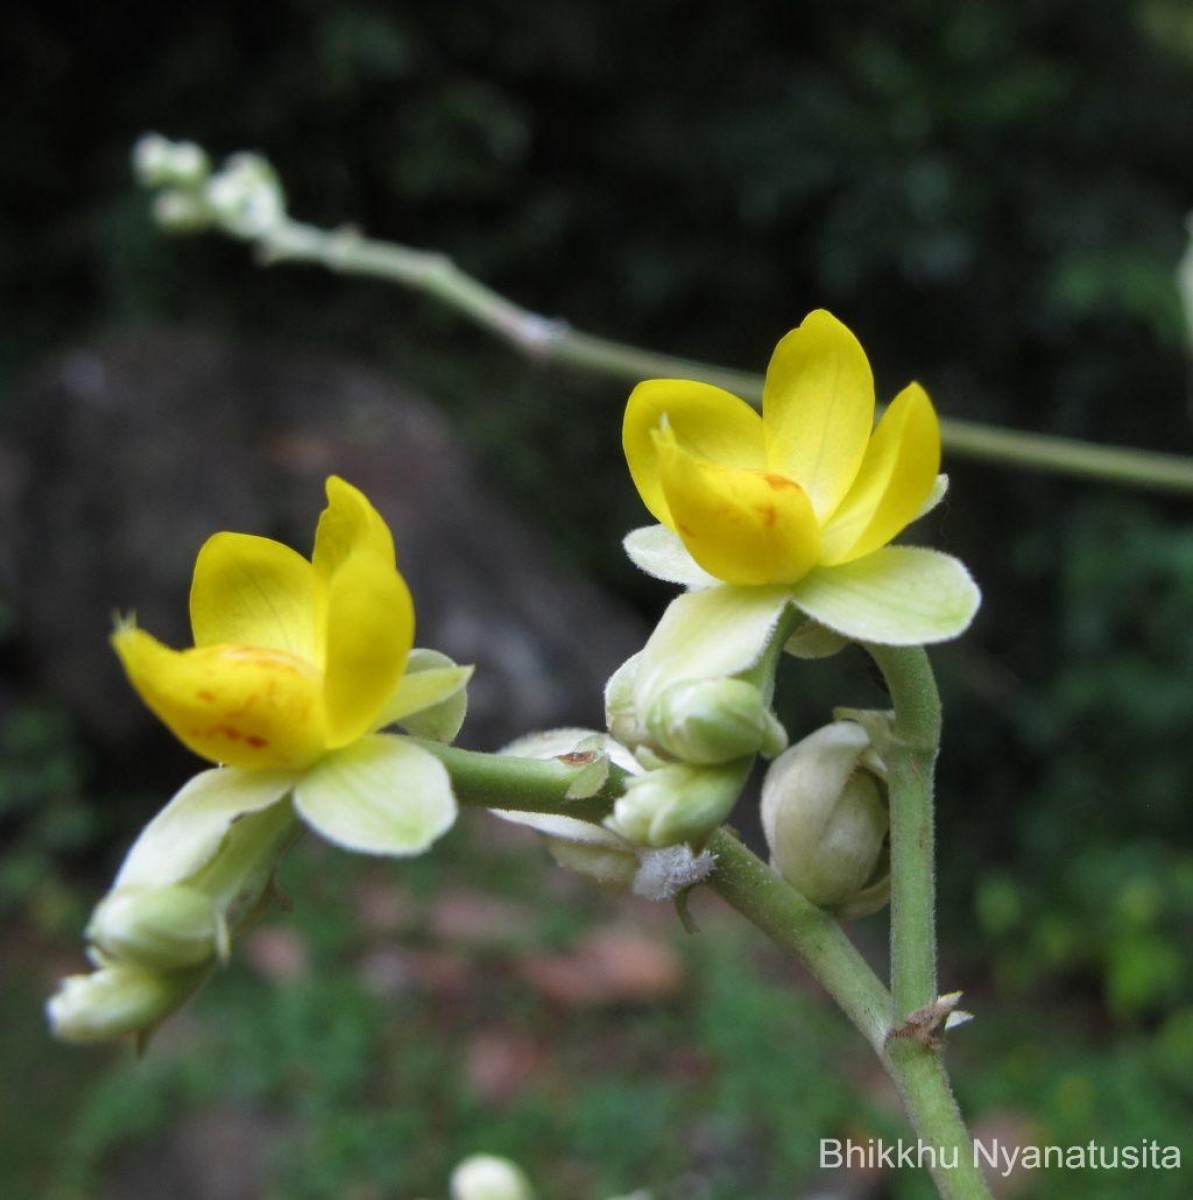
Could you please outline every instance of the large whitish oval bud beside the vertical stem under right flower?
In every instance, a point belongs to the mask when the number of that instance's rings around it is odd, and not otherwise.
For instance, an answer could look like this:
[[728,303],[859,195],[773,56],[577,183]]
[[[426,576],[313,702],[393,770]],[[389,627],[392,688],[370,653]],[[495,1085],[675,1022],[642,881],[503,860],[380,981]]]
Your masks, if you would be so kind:
[[762,828],[771,865],[814,904],[849,917],[886,904],[886,768],[861,725],[828,725],[775,758]]

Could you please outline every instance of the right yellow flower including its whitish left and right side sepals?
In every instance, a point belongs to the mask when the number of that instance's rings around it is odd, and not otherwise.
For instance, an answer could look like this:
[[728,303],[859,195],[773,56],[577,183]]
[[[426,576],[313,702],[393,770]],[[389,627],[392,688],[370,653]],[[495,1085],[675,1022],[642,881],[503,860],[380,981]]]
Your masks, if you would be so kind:
[[773,589],[862,641],[955,637],[978,604],[965,568],[887,545],[943,494],[936,413],[915,383],[877,427],[874,412],[865,352],[823,311],[775,348],[761,415],[709,384],[640,384],[623,444],[661,524],[630,534],[627,551],[689,587]]

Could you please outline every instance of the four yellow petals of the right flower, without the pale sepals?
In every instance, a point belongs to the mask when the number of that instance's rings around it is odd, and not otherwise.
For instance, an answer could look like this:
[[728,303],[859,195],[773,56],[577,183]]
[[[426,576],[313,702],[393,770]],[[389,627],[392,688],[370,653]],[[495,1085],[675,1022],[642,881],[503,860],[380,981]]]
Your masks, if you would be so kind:
[[940,425],[923,388],[873,425],[865,352],[817,311],[775,348],[761,416],[719,388],[652,379],[630,396],[625,456],[646,506],[706,571],[795,583],[885,546],[933,490]]

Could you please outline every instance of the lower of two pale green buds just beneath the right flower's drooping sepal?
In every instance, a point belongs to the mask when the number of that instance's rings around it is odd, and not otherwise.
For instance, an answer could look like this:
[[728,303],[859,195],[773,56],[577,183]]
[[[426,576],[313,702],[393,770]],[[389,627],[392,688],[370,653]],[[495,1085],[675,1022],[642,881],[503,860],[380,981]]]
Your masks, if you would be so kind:
[[605,824],[639,846],[700,841],[729,816],[750,760],[715,767],[670,763],[627,780]]

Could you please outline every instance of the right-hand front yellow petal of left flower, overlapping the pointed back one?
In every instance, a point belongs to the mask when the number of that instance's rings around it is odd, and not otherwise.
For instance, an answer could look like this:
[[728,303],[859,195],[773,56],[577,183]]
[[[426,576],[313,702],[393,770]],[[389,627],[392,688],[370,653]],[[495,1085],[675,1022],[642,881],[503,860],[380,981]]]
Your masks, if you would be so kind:
[[342,746],[374,726],[414,644],[406,581],[371,541],[336,566],[325,622],[323,694],[330,743]]

